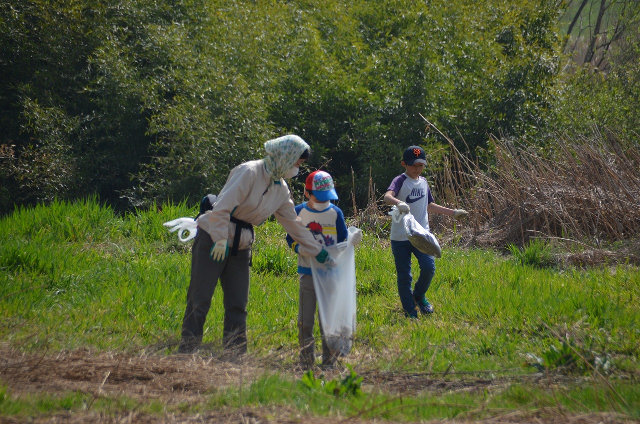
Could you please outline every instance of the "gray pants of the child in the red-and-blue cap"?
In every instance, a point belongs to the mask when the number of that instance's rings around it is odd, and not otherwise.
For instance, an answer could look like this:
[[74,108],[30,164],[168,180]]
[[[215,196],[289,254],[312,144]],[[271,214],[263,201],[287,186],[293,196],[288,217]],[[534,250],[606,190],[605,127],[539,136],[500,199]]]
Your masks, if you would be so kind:
[[[314,338],[314,324],[316,323],[316,289],[311,275],[300,274],[300,294],[298,298],[298,342],[300,343],[300,361],[313,366],[316,362],[316,338]],[[335,363],[335,356],[324,339],[324,332],[320,316],[318,325],[322,336],[322,362]]]

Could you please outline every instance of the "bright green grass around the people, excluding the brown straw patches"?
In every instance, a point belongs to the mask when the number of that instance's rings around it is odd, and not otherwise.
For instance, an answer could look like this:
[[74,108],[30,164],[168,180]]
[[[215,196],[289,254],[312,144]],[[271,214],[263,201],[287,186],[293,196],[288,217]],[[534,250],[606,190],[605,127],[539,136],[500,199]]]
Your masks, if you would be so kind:
[[[195,208],[168,204],[161,211],[116,216],[88,199],[18,209],[1,218],[0,343],[27,352],[90,348],[175,353],[191,242],[180,243],[162,224],[195,214]],[[293,364],[296,257],[275,222],[258,227],[256,236],[249,354],[273,357],[284,352],[280,361]],[[615,411],[640,418],[637,268],[540,266],[547,263],[540,245],[513,248],[508,257],[491,250],[445,247],[428,292],[436,313],[412,322],[403,318],[392,255],[384,246],[365,234],[356,251],[358,327],[346,358],[355,373],[432,373],[432,379],[443,381],[470,373],[489,379],[515,377],[513,384],[498,392],[395,396],[365,379],[363,394],[346,399],[305,387],[284,371],[266,370],[252,376],[249,384],[213,391],[181,410],[282,405],[317,415],[415,421],[561,406],[576,413]],[[204,336],[212,351],[220,346],[221,294],[216,290]],[[526,383],[526,377],[540,370],[590,378],[591,383],[586,389],[568,385],[550,393]],[[81,411],[87,403],[94,411],[109,413],[166,410],[166,405],[140,405],[127,398],[97,402],[82,393],[10,394],[0,373],[0,416]]]

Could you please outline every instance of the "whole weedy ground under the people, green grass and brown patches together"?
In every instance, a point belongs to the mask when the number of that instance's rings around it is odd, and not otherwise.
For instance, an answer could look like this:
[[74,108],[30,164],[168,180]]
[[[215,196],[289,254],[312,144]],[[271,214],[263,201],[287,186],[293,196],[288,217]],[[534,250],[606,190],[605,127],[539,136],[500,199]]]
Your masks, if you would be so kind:
[[193,215],[169,204],[119,216],[88,199],[3,218],[0,423],[640,418],[634,265],[562,266],[546,245],[505,255],[443,237],[436,313],[412,321],[387,241],[368,230],[353,350],[309,375],[297,361],[296,258],[276,222],[256,233],[248,354],[222,354],[220,290],[202,349],[176,354],[190,244],[162,224]]

